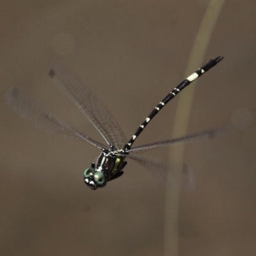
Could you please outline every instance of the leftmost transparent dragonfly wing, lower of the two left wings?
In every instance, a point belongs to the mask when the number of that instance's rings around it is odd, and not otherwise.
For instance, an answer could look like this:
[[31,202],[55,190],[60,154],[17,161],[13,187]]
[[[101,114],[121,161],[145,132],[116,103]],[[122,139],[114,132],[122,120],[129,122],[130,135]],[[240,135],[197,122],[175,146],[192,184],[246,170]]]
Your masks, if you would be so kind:
[[4,93],[6,104],[13,108],[22,118],[26,118],[36,127],[64,138],[83,140],[104,149],[104,145],[85,136],[70,125],[52,115],[49,111],[38,105],[33,99],[22,94],[17,88],[10,88]]

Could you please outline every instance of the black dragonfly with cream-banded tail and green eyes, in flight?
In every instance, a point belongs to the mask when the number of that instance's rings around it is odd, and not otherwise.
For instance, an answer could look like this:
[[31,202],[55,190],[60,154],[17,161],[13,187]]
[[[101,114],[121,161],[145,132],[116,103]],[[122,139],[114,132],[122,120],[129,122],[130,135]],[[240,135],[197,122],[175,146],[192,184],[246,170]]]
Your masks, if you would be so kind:
[[208,129],[170,140],[148,143],[138,147],[132,147],[132,145],[154,116],[156,116],[170,100],[221,60],[223,60],[221,56],[210,60],[177,85],[172,92],[168,93],[151,111],[136,132],[134,132],[130,140],[125,138],[120,125],[116,122],[104,102],[91,92],[74,72],[71,72],[67,67],[61,65],[60,62],[56,60],[52,61],[49,65],[49,76],[54,83],[68,95],[86,118],[88,118],[108,145],[95,141],[86,136],[83,132],[77,131],[77,129],[63,122],[60,118],[47,111],[47,109],[37,104],[35,100],[24,95],[15,87],[6,90],[4,100],[18,115],[22,118],[26,118],[36,127],[64,138],[87,141],[101,150],[97,160],[92,162],[91,167],[84,171],[84,182],[90,189],[104,188],[110,180],[115,180],[123,175],[123,169],[127,164],[126,159],[132,159],[141,164],[141,166],[145,167],[156,179],[163,182],[166,186],[182,186],[182,188],[188,188],[195,185],[195,176],[188,168],[187,164],[165,163],[160,159],[138,156],[137,153],[145,152],[153,148],[166,147],[175,143],[214,138],[223,132],[223,127]]

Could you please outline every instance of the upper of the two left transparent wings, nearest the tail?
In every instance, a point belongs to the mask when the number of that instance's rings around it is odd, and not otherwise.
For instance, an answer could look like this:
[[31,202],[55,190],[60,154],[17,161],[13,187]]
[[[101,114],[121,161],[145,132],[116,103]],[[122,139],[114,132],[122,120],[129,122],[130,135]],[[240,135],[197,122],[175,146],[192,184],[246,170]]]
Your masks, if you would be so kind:
[[58,61],[52,61],[50,64],[49,76],[90,120],[108,145],[116,148],[122,148],[125,145],[127,140],[124,133],[109,109],[97,95],[88,90],[79,77],[60,65]]

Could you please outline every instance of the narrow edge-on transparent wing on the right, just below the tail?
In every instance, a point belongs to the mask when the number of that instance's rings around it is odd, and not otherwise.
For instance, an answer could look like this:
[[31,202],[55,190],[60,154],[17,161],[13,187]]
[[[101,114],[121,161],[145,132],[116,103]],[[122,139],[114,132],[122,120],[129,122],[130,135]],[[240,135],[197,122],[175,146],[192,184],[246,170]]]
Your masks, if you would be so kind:
[[216,129],[209,129],[206,131],[200,131],[200,132],[196,132],[196,133],[193,133],[190,135],[182,136],[180,138],[174,138],[174,139],[170,139],[170,140],[163,140],[163,141],[148,143],[145,145],[131,148],[130,150],[127,150],[127,152],[141,153],[141,152],[145,152],[147,150],[151,150],[153,148],[165,147],[165,146],[169,146],[169,145],[176,144],[176,143],[212,139],[212,138],[216,138],[217,136],[221,136],[221,135],[227,133],[228,130],[229,130],[228,126],[220,127],[220,128],[216,128]]

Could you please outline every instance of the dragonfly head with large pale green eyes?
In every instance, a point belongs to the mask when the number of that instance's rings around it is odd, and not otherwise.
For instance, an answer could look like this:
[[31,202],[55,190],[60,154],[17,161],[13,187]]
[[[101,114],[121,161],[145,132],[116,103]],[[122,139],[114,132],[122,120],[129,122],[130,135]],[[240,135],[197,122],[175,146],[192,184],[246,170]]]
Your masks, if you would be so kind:
[[103,188],[107,184],[107,179],[102,172],[95,171],[95,168],[88,168],[84,171],[84,182],[90,189]]

